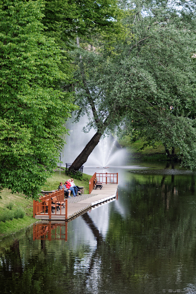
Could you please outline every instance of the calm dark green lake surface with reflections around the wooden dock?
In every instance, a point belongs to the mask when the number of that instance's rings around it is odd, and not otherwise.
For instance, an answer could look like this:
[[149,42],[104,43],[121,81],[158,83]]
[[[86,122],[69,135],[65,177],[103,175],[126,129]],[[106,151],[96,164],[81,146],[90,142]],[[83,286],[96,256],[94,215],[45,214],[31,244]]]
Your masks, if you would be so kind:
[[[196,173],[167,163],[118,172],[118,200],[52,227],[0,241],[0,293],[196,293]],[[47,233],[45,234],[45,236]]]

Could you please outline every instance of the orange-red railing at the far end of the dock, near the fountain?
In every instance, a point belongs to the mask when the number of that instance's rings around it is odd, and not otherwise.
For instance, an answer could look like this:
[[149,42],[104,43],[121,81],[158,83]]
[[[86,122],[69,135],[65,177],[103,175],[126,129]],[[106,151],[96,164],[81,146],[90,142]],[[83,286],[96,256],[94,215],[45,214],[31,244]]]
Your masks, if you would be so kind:
[[118,173],[94,173],[89,181],[89,194],[92,192],[95,183],[94,179],[103,184],[118,184]]

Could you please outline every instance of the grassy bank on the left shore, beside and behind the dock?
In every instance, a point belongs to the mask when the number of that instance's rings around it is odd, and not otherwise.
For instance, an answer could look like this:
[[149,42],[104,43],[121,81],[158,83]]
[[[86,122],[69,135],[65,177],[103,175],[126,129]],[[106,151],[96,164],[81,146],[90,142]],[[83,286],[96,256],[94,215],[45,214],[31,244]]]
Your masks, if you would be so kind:
[[[60,181],[63,183],[70,178],[65,175],[64,171],[54,172],[51,178],[48,178],[45,185],[42,187],[44,191],[51,191],[58,189]],[[74,179],[74,183],[77,186],[84,187],[84,193],[89,192],[89,180],[91,176],[83,173],[82,181]],[[2,190],[2,199],[0,199],[0,236],[10,235],[16,231],[26,228],[27,226],[35,223],[36,220],[33,218],[33,200],[26,199],[24,194],[11,194],[8,189]],[[23,216],[24,217],[21,217]],[[6,220],[10,216],[12,219]]]

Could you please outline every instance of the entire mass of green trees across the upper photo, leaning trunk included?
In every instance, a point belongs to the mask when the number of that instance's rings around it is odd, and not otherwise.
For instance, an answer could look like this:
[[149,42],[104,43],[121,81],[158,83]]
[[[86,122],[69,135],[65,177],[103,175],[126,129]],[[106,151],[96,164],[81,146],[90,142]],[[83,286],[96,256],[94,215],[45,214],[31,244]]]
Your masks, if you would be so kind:
[[195,12],[183,0],[1,0],[1,189],[37,197],[73,96],[96,130],[73,168],[116,127],[195,167]]

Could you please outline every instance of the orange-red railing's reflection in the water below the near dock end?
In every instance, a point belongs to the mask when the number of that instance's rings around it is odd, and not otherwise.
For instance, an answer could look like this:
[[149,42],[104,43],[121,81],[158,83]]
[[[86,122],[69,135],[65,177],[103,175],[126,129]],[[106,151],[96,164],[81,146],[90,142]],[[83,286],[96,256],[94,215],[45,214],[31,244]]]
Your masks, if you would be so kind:
[[60,223],[34,223],[33,240],[65,240],[67,241],[67,222]]

